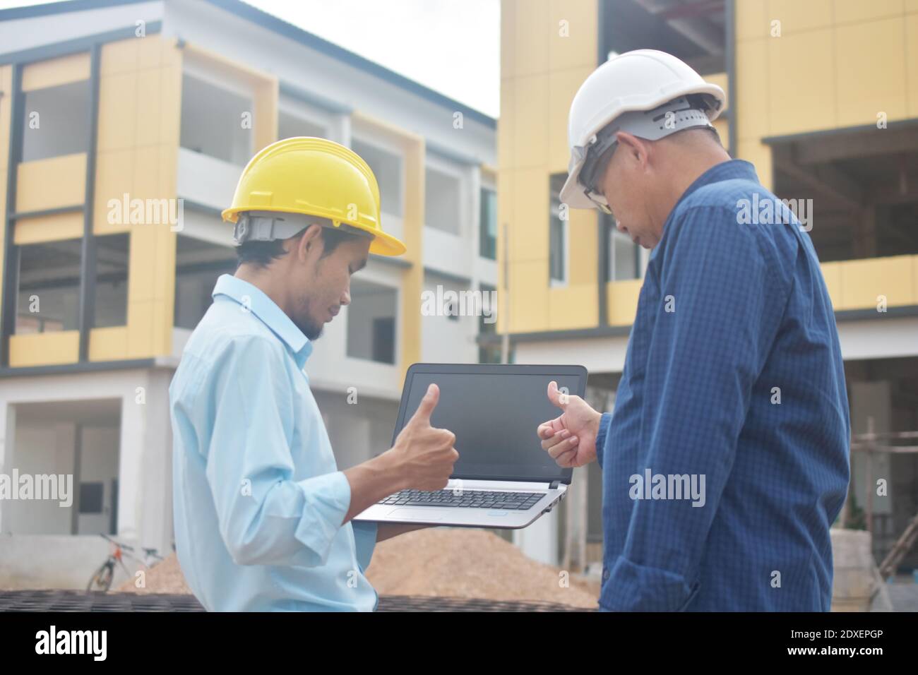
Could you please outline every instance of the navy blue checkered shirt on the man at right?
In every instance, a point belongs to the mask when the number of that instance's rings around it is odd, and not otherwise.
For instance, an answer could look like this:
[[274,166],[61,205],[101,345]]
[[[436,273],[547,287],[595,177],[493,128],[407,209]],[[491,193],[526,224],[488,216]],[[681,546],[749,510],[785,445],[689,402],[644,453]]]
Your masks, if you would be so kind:
[[599,608],[828,611],[849,438],[810,236],[752,164],[718,164],[666,220],[600,423]]

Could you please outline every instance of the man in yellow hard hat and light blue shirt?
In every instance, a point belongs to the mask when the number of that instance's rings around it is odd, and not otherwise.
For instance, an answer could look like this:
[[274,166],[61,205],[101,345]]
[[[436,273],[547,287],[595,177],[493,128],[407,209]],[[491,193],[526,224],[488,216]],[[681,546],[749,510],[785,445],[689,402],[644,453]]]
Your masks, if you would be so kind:
[[239,267],[219,277],[169,389],[176,551],[208,610],[374,610],[375,542],[417,528],[351,519],[453,471],[455,436],[430,423],[435,385],[390,450],[339,471],[303,372],[368,253],[405,252],[379,212],[370,167],[316,138],[258,152],[223,212]]

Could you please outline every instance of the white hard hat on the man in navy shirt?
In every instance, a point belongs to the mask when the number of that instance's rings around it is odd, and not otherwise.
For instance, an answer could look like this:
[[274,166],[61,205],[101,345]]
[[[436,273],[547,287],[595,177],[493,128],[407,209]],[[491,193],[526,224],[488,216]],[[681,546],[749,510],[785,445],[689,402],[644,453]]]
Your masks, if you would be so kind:
[[561,201],[570,208],[605,205],[581,181],[581,172],[585,163],[588,173],[595,168],[618,131],[656,141],[682,129],[711,127],[725,102],[721,87],[705,82],[688,63],[665,51],[626,51],[612,57],[589,74],[571,103],[571,158]]

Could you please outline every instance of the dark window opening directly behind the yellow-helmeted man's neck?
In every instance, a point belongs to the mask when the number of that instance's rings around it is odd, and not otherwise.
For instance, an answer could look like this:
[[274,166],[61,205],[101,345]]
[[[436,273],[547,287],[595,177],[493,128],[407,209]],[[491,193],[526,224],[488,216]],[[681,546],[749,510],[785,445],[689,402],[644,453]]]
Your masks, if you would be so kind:
[[175,328],[193,330],[213,302],[218,276],[236,272],[230,246],[178,235],[175,248]]

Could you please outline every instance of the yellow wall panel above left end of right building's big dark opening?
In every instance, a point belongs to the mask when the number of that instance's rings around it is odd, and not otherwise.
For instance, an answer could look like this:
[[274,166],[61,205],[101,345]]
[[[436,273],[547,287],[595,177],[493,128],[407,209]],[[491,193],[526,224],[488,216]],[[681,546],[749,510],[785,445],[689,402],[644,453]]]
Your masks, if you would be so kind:
[[[768,41],[768,116],[771,134],[831,129],[837,123],[832,29]],[[805,67],[803,65],[805,64]],[[747,82],[761,86],[761,80]],[[739,107],[739,115],[746,109]]]

